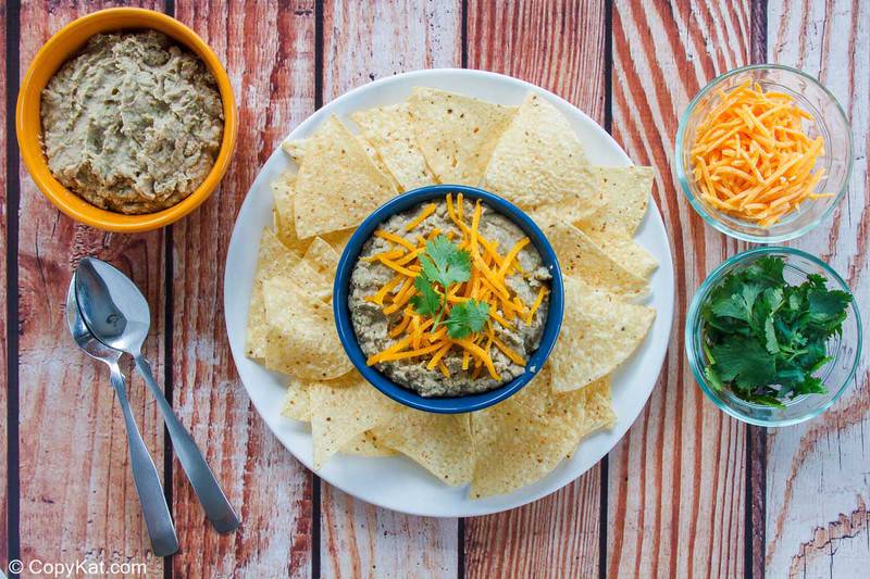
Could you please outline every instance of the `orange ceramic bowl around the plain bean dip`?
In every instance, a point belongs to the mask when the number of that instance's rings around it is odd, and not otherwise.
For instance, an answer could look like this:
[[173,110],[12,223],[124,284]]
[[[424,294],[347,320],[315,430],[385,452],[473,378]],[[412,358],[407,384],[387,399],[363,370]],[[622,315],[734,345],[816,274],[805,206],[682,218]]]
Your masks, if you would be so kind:
[[[206,63],[217,84],[224,105],[224,135],[214,166],[206,180],[179,203],[144,215],[124,215],[91,205],[54,178],[42,151],[40,104],[42,89],[54,73],[99,33],[145,29],[159,30],[186,47]],[[206,201],[226,173],[236,144],[238,117],[233,87],[211,48],[181,22],[151,10],[114,8],[88,14],[64,26],[39,50],[24,76],[15,112],[18,147],[27,171],[39,190],[63,213],[92,227],[109,231],[135,232],[158,229],[176,222]]]

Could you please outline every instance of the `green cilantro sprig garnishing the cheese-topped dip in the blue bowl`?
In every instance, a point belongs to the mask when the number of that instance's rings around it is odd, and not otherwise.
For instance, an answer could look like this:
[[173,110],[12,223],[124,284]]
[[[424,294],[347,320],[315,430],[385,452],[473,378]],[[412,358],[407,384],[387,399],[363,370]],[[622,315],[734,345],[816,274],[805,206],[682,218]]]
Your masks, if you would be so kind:
[[[447,311],[447,293],[455,284],[471,279],[471,254],[445,236],[436,236],[426,243],[420,255],[422,272],[414,279],[418,293],[411,305],[418,314],[435,319],[432,329],[437,329]],[[489,304],[469,300],[450,309],[444,324],[450,338],[462,339],[481,331],[489,316]]]

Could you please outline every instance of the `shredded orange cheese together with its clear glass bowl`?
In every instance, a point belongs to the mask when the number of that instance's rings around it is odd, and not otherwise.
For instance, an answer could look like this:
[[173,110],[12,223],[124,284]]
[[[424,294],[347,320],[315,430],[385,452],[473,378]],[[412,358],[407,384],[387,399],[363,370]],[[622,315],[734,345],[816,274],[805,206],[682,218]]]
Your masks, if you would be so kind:
[[675,169],[692,205],[720,231],[762,243],[794,239],[848,188],[849,125],[833,95],[803,72],[737,68],[689,104]]

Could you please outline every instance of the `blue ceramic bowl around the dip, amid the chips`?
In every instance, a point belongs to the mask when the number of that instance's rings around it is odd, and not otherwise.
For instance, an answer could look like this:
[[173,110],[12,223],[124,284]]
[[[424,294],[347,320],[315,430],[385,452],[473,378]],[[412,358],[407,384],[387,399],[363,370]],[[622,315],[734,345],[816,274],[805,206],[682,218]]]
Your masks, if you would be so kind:
[[[375,229],[397,213],[412,209],[421,203],[433,199],[444,199],[447,193],[461,192],[467,200],[482,200],[495,211],[509,217],[515,223],[532,241],[537,252],[540,254],[544,265],[552,274],[550,282],[550,304],[547,313],[547,322],[544,327],[544,336],[540,339],[540,347],[532,354],[525,366],[525,372],[510,382],[480,394],[469,394],[464,397],[451,398],[424,398],[412,390],[397,385],[374,367],[365,365],[365,354],[357,341],[353,331],[353,323],[350,319],[350,309],[348,307],[348,294],[350,291],[350,275],[357,265],[357,260],[362,252],[362,247],[372,237]],[[523,213],[522,210],[501,199],[500,197],[488,193],[474,187],[459,185],[434,185],[421,187],[413,191],[408,191],[391,201],[385,203],[372,213],[350,238],[338,262],[338,272],[335,276],[333,288],[333,311],[335,313],[335,325],[338,329],[338,338],[345,347],[350,361],[375,388],[396,402],[420,411],[435,412],[439,414],[458,414],[463,412],[474,412],[487,406],[492,406],[510,395],[520,391],[544,366],[547,357],[552,351],[556,338],[559,336],[559,328],[562,325],[562,311],[564,301],[564,288],[562,286],[562,274],[559,269],[559,262],[552,251],[547,238],[537,225]]]

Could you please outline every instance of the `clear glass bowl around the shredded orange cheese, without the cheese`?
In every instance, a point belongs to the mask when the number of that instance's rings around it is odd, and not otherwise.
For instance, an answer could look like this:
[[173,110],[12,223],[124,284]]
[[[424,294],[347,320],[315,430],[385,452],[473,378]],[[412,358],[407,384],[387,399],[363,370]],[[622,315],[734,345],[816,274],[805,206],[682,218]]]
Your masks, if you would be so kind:
[[[784,215],[769,227],[729,215],[704,201],[692,175],[689,151],[695,142],[696,130],[710,110],[720,102],[720,89],[728,92],[749,79],[765,90],[791,95],[798,106],[816,118],[815,123],[806,126],[810,138],[821,135],[824,140],[824,156],[818,160],[813,171],[824,168],[825,176],[816,186],[816,192],[834,193],[833,197],[803,203],[799,210]],[[676,131],[674,167],[692,206],[712,227],[744,241],[780,243],[803,236],[828,218],[846,193],[852,174],[852,131],[834,96],[811,76],[775,64],[744,66],[717,77],[688,104]]]

